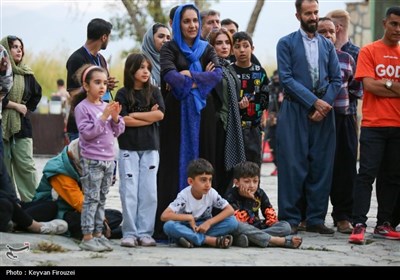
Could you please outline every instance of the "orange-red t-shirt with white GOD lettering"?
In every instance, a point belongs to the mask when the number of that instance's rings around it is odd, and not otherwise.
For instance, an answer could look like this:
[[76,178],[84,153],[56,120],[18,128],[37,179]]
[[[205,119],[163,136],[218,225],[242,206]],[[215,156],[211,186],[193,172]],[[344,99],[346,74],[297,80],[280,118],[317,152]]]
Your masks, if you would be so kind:
[[[381,40],[361,48],[355,78],[362,81],[400,80],[400,46],[389,47]],[[364,88],[362,127],[400,127],[400,98],[381,97]]]

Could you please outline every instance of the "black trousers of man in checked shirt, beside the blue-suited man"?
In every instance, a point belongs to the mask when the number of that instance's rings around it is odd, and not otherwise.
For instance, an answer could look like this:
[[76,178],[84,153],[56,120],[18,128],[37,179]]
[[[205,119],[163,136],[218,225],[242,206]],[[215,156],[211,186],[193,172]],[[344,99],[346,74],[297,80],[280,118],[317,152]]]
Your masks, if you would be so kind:
[[357,176],[357,116],[335,114],[336,150],[330,193],[332,218],[351,221],[353,190]]

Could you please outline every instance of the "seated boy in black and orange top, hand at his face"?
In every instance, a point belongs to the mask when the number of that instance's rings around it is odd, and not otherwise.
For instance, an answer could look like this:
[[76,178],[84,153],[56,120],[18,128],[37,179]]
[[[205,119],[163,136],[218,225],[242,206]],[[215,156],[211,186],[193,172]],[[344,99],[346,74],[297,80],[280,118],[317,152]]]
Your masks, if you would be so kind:
[[[242,162],[233,169],[234,186],[226,199],[235,209],[239,226],[234,232],[235,245],[248,247],[249,242],[259,247],[299,248],[301,237],[290,235],[290,224],[278,221],[267,194],[259,187],[260,168],[254,162]],[[259,210],[265,218],[261,220]]]

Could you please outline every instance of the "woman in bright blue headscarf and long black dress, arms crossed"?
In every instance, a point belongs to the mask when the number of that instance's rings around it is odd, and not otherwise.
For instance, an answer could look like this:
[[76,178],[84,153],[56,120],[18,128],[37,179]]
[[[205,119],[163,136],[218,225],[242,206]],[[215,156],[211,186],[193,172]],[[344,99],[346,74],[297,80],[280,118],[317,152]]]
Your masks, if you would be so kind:
[[200,27],[196,6],[179,6],[172,23],[173,40],[160,52],[165,115],[160,127],[158,232],[162,232],[161,212],[188,185],[189,161],[201,157],[215,163],[216,116],[209,93],[221,80],[222,70],[214,48],[200,39]]

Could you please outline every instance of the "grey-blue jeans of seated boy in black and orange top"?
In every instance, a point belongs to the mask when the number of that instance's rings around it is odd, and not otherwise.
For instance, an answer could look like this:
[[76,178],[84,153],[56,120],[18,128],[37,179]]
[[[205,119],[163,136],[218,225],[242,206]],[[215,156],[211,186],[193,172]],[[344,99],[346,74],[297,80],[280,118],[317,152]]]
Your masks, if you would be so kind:
[[237,230],[233,233],[233,239],[240,234],[247,236],[250,243],[265,248],[268,247],[272,236],[285,237],[290,235],[291,227],[286,221],[279,221],[266,229],[259,229],[248,223],[239,222]]

